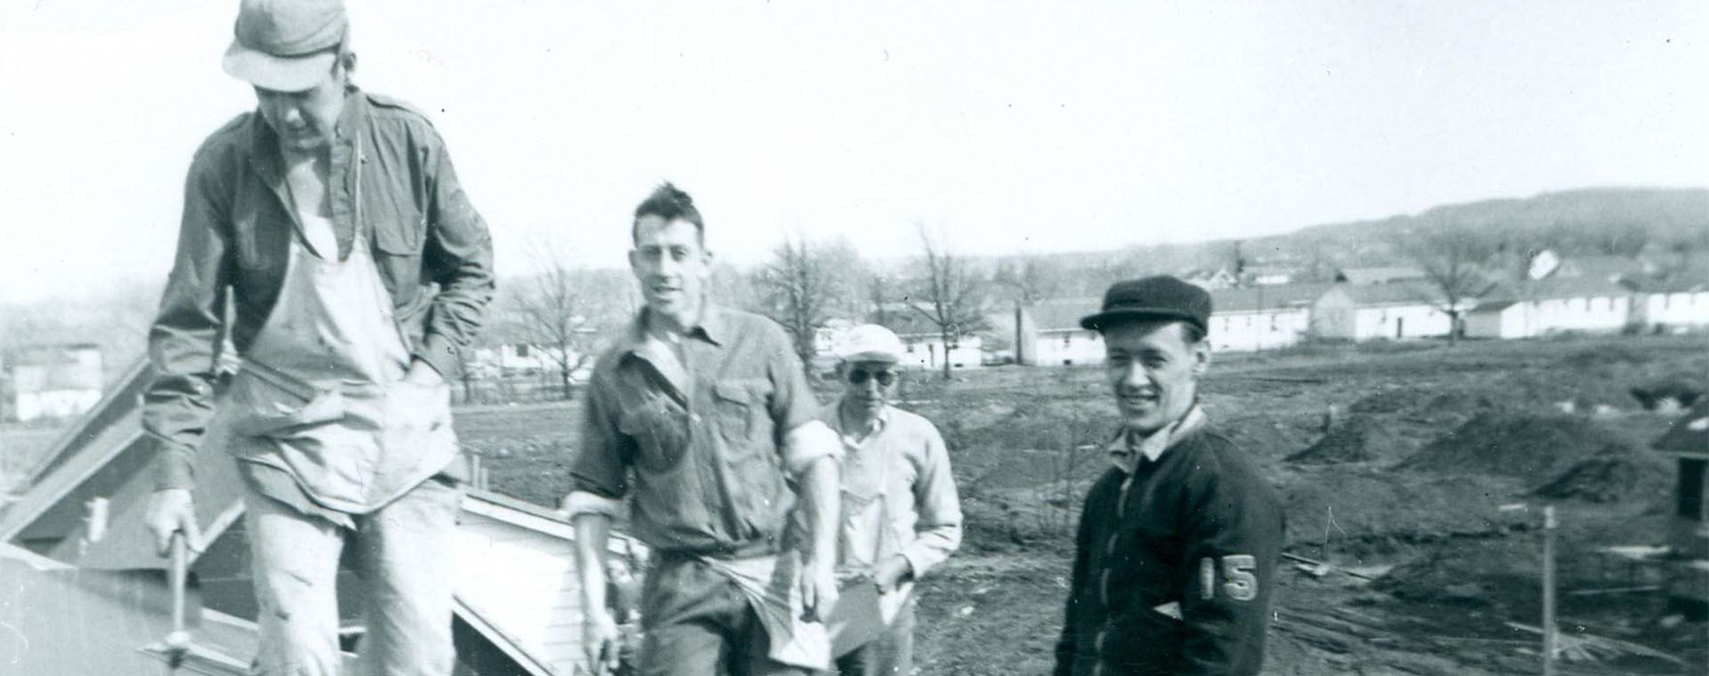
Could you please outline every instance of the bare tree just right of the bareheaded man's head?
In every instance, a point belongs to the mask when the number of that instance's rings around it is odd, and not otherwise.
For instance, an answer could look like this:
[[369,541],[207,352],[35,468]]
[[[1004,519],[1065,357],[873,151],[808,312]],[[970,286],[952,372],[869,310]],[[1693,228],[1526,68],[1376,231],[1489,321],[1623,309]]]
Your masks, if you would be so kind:
[[846,304],[848,275],[839,270],[849,270],[851,258],[853,248],[846,244],[808,244],[800,236],[786,236],[755,275],[764,314],[790,333],[808,372],[817,352],[813,338]]

